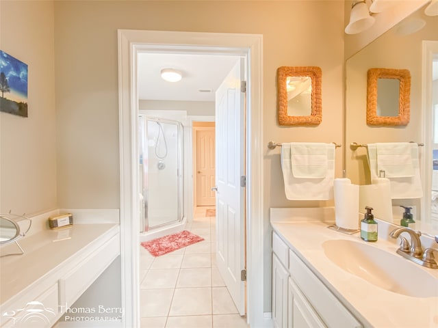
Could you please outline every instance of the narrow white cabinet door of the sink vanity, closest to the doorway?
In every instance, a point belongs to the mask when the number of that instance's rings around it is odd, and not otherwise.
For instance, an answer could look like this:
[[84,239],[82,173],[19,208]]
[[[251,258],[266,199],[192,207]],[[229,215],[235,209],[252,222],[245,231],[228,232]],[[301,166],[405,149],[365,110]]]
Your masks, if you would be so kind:
[[274,328],[287,327],[287,279],[289,271],[272,254],[272,322]]

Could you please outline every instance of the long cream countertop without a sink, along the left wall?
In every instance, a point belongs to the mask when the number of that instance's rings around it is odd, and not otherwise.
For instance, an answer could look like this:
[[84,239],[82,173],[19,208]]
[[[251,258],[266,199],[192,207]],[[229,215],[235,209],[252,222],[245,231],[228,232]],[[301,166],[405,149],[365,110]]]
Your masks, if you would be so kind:
[[71,267],[74,260],[88,256],[89,249],[100,247],[118,232],[119,225],[114,223],[75,223],[70,228],[42,230],[19,239],[18,244],[25,251],[23,255],[8,255],[19,253],[15,243],[2,245],[0,304],[61,267],[67,271],[74,269]]

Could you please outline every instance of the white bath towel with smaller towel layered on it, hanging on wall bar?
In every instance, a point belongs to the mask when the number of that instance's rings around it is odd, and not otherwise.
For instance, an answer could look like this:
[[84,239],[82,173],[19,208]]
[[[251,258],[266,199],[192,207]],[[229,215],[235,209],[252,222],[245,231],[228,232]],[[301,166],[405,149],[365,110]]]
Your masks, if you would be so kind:
[[333,143],[283,143],[281,169],[288,200],[333,199]]

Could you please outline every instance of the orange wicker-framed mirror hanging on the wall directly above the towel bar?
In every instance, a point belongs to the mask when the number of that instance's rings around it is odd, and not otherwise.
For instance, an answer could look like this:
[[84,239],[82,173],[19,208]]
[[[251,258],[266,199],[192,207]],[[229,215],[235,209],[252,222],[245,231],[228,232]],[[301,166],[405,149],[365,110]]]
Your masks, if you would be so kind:
[[279,125],[315,126],[322,121],[321,68],[281,66],[277,69]]

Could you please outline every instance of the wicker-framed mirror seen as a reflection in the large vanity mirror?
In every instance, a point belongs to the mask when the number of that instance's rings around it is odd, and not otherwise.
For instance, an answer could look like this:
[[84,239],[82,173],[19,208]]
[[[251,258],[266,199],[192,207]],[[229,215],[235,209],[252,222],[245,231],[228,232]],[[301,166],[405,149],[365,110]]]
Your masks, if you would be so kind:
[[367,87],[367,124],[405,126],[411,118],[409,70],[370,68]]

